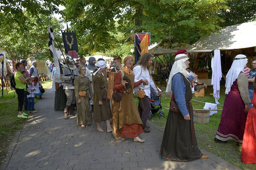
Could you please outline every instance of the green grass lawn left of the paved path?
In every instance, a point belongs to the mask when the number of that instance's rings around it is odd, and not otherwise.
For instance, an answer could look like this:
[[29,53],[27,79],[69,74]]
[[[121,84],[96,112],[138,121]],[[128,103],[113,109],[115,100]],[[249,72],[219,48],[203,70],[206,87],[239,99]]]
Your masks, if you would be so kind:
[[[44,89],[52,86],[52,81],[43,81],[41,82]],[[1,93],[2,94],[2,93]],[[3,103],[13,99],[17,94],[14,90],[8,90],[8,95],[6,94],[6,88],[4,88],[3,97],[0,96],[0,164],[3,159],[6,157],[7,148],[10,144],[10,141],[13,139],[14,134],[17,130],[22,127],[22,124],[26,119],[18,118],[18,99],[14,99],[11,102]],[[38,101],[38,98],[35,99],[35,102]],[[25,112],[27,113],[27,112]]]

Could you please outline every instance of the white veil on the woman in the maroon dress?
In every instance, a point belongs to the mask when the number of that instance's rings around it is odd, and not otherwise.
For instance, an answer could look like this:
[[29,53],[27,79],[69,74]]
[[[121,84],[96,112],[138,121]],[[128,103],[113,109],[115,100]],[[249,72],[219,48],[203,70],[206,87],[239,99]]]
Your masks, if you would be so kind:
[[244,72],[244,67],[246,67],[247,62],[248,62],[248,59],[245,55],[239,54],[235,56],[235,59],[231,65],[231,68],[228,71],[226,76],[227,79],[225,84],[225,87],[226,87],[225,94],[229,94],[231,86],[233,85],[233,82],[235,81],[235,79],[237,79],[241,71]]

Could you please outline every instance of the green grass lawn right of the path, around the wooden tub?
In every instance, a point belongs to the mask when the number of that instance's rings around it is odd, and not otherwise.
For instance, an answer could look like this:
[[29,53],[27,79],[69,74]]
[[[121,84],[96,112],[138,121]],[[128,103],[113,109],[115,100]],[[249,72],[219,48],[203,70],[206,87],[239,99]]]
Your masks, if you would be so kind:
[[[165,88],[162,88],[165,89]],[[205,97],[193,97],[193,99],[202,101],[202,102],[210,102],[215,103],[215,99],[212,96],[213,90],[212,86],[208,86]],[[221,96],[219,99],[220,104],[224,103],[225,98],[225,87],[221,86]],[[135,100],[138,102],[137,97],[135,97]],[[166,119],[168,116],[168,111],[165,110],[165,108],[169,108],[170,102],[171,102],[171,95],[163,93],[162,95],[162,107],[165,112],[165,117],[159,119],[158,113],[156,113],[153,118],[150,120],[151,122],[161,126],[165,127]],[[203,109],[204,104],[199,102],[192,102],[192,105],[195,109]],[[218,106],[218,109],[222,109],[221,106]],[[197,135],[197,143],[198,146],[204,150],[207,150],[210,153],[215,154],[216,156],[219,156],[221,159],[224,159],[232,164],[234,164],[237,167],[240,167],[244,170],[255,170],[256,164],[244,164],[241,161],[241,146],[239,146],[235,141],[229,140],[227,143],[216,143],[214,142],[214,138],[216,135],[216,131],[218,130],[218,125],[221,121],[221,111],[218,111],[218,113],[215,113],[210,117],[210,122],[201,125],[201,124],[195,124],[195,131]]]

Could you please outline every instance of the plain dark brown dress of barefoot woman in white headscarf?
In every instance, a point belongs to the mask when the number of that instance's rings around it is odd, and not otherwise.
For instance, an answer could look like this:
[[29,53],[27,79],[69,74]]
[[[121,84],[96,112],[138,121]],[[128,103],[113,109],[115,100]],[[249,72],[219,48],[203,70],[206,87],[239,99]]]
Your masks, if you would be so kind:
[[[100,123],[112,118],[109,99],[107,98],[107,82],[102,74],[97,73],[92,76],[92,84],[94,88],[94,107],[93,107],[93,120],[95,123]],[[99,100],[103,105],[99,105]]]

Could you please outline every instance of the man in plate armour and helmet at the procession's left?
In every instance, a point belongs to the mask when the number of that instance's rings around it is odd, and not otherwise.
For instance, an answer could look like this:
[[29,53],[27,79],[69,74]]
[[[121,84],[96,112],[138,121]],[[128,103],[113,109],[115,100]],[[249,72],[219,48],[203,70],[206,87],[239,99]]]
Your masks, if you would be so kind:
[[74,112],[76,96],[75,96],[75,87],[74,79],[79,75],[77,67],[74,64],[74,61],[71,56],[66,57],[66,64],[62,68],[63,74],[60,74],[60,79],[65,80],[65,85],[63,89],[67,96],[66,106],[64,108],[64,119],[68,119],[68,114],[76,115]]

